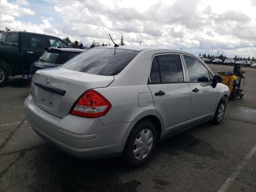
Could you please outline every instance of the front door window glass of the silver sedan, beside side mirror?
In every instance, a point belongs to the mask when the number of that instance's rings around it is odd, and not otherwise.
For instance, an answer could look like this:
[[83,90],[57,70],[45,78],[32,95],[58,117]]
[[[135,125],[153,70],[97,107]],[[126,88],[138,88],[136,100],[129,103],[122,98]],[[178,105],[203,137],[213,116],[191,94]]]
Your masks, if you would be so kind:
[[210,82],[209,71],[195,58],[184,55],[190,82]]

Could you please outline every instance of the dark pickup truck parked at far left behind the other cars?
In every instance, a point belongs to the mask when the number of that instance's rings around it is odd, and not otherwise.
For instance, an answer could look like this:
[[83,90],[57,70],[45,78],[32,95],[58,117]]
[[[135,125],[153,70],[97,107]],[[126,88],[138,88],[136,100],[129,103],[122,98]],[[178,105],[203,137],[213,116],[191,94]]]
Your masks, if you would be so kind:
[[4,32],[0,40],[0,86],[8,82],[9,76],[28,75],[31,64],[45,51],[44,47],[71,48],[54,36]]

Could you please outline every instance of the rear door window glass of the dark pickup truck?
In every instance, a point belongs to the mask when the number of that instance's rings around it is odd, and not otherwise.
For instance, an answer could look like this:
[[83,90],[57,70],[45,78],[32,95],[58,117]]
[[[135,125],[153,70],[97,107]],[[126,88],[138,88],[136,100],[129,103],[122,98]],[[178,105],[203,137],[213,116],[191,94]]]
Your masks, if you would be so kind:
[[26,48],[43,48],[46,47],[46,39],[44,36],[28,35],[25,38],[24,47]]

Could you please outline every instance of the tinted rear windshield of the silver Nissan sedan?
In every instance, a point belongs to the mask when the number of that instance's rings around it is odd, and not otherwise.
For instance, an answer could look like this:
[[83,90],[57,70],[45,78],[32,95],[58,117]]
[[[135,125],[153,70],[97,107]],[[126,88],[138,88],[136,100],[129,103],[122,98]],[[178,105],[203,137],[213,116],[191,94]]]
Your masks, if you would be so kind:
[[120,73],[139,51],[116,48],[93,48],[62,65],[63,68],[96,75]]

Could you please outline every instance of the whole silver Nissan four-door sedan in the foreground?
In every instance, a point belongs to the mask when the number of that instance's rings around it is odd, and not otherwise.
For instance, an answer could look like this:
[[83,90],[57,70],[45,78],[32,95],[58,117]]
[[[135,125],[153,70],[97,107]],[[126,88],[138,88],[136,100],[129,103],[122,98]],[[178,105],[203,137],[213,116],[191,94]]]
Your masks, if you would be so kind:
[[34,131],[56,148],[140,166],[157,142],[222,121],[229,89],[221,82],[181,50],[98,47],[38,70],[24,107]]

